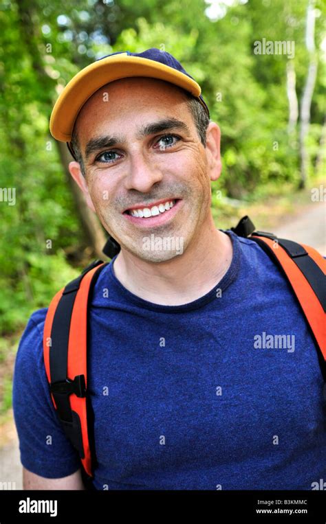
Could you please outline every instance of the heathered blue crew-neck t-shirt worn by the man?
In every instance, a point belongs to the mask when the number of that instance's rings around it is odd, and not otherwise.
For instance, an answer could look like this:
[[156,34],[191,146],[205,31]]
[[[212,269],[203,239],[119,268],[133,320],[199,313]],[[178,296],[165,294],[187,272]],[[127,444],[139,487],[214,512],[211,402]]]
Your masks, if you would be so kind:
[[[188,304],[134,295],[116,257],[98,278],[88,374],[98,490],[311,490],[326,479],[323,376],[301,310],[268,255],[224,232],[230,267]],[[49,394],[46,312],[23,333],[13,406],[23,466],[58,478],[80,463]]]

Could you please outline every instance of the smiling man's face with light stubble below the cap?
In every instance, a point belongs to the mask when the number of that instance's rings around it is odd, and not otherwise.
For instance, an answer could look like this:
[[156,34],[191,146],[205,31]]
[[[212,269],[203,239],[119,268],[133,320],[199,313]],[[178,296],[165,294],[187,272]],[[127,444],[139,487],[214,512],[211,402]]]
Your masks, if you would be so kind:
[[76,166],[71,172],[122,249],[163,262],[202,234],[220,172],[219,129],[210,126],[204,148],[183,91],[152,78],[111,82],[83,106],[76,130],[85,181]]

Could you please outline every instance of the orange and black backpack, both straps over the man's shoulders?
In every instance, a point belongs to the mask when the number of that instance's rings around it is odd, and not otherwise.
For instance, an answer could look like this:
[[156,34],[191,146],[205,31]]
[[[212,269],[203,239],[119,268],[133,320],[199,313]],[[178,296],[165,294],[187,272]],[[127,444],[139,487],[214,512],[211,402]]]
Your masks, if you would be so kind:
[[[290,282],[314,339],[326,386],[326,260],[305,244],[255,231],[248,216],[230,229],[257,242]],[[113,258],[119,251],[120,245],[109,236],[103,253]],[[95,489],[92,479],[96,468],[94,412],[87,393],[87,312],[96,280],[107,264],[94,260],[79,277],[56,293],[47,310],[43,334],[50,395],[63,431],[79,453],[86,489]]]

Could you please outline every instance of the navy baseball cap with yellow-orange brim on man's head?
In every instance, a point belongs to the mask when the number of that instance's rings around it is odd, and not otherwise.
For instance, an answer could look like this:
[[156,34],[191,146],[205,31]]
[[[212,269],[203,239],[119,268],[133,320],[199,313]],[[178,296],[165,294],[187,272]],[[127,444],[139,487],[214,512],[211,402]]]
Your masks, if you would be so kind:
[[145,76],[171,82],[191,93],[204,106],[202,89],[170,53],[155,47],[142,53],[118,51],[99,58],[81,69],[59,95],[50,117],[50,132],[59,141],[69,142],[80,109],[100,87],[131,76]]

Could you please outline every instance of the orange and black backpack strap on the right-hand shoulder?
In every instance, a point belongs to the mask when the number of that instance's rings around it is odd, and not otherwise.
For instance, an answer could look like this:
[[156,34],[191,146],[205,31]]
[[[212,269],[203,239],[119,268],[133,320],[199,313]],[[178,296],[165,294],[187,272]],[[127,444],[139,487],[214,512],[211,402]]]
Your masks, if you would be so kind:
[[320,369],[326,382],[325,258],[305,244],[277,238],[273,233],[254,231],[248,216],[241,218],[231,229],[237,235],[257,242],[287,278],[316,343]]

